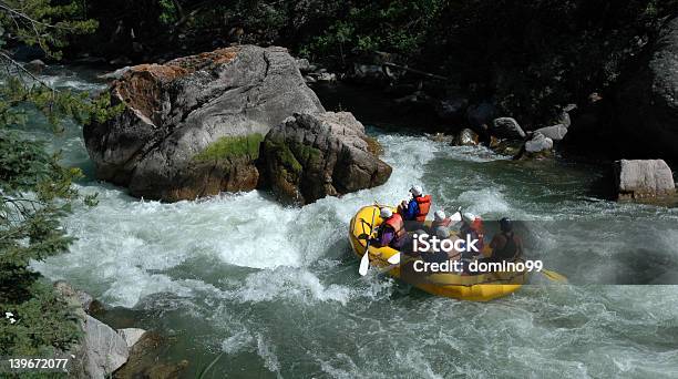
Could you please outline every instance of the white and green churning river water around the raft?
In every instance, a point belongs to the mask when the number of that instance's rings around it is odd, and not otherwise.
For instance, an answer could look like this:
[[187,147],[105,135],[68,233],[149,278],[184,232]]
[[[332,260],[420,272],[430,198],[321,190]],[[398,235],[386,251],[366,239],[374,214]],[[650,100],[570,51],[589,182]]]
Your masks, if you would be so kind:
[[[68,72],[51,80],[100,86]],[[81,127],[69,125],[53,147],[85,170],[79,188],[99,193],[100,205],[76,207],[65,222],[78,238],[70,253],[34,267],[133,318],[121,325],[171,336],[164,358],[187,359],[186,377],[218,356],[206,377],[678,376],[678,286],[546,286],[534,277],[542,285],[503,299],[458,301],[374,273],[361,278],[347,238],[360,206],[396,203],[422,183],[435,208],[568,221],[535,234],[546,265],[604,275],[628,258],[678,259],[677,209],[596,197],[599,167],[514,163],[484,148],[371,133],[393,166],[386,185],[291,208],[259,192],[132,198],[93,180]],[[637,242],[639,226],[661,233]]]

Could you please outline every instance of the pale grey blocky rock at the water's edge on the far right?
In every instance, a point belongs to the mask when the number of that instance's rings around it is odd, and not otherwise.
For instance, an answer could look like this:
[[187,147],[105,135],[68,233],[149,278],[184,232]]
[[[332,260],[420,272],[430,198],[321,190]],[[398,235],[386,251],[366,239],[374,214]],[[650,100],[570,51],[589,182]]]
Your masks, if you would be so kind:
[[615,181],[618,199],[674,195],[671,168],[662,160],[616,161]]

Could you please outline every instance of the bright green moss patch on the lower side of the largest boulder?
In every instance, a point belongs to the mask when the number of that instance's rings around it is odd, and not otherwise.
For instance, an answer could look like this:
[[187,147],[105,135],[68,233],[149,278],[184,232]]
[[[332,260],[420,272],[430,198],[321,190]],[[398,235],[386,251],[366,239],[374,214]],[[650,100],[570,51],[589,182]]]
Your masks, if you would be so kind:
[[193,160],[197,162],[223,161],[234,157],[249,156],[250,160],[259,157],[259,145],[264,135],[259,133],[243,136],[223,136],[210,143],[196,154]]

